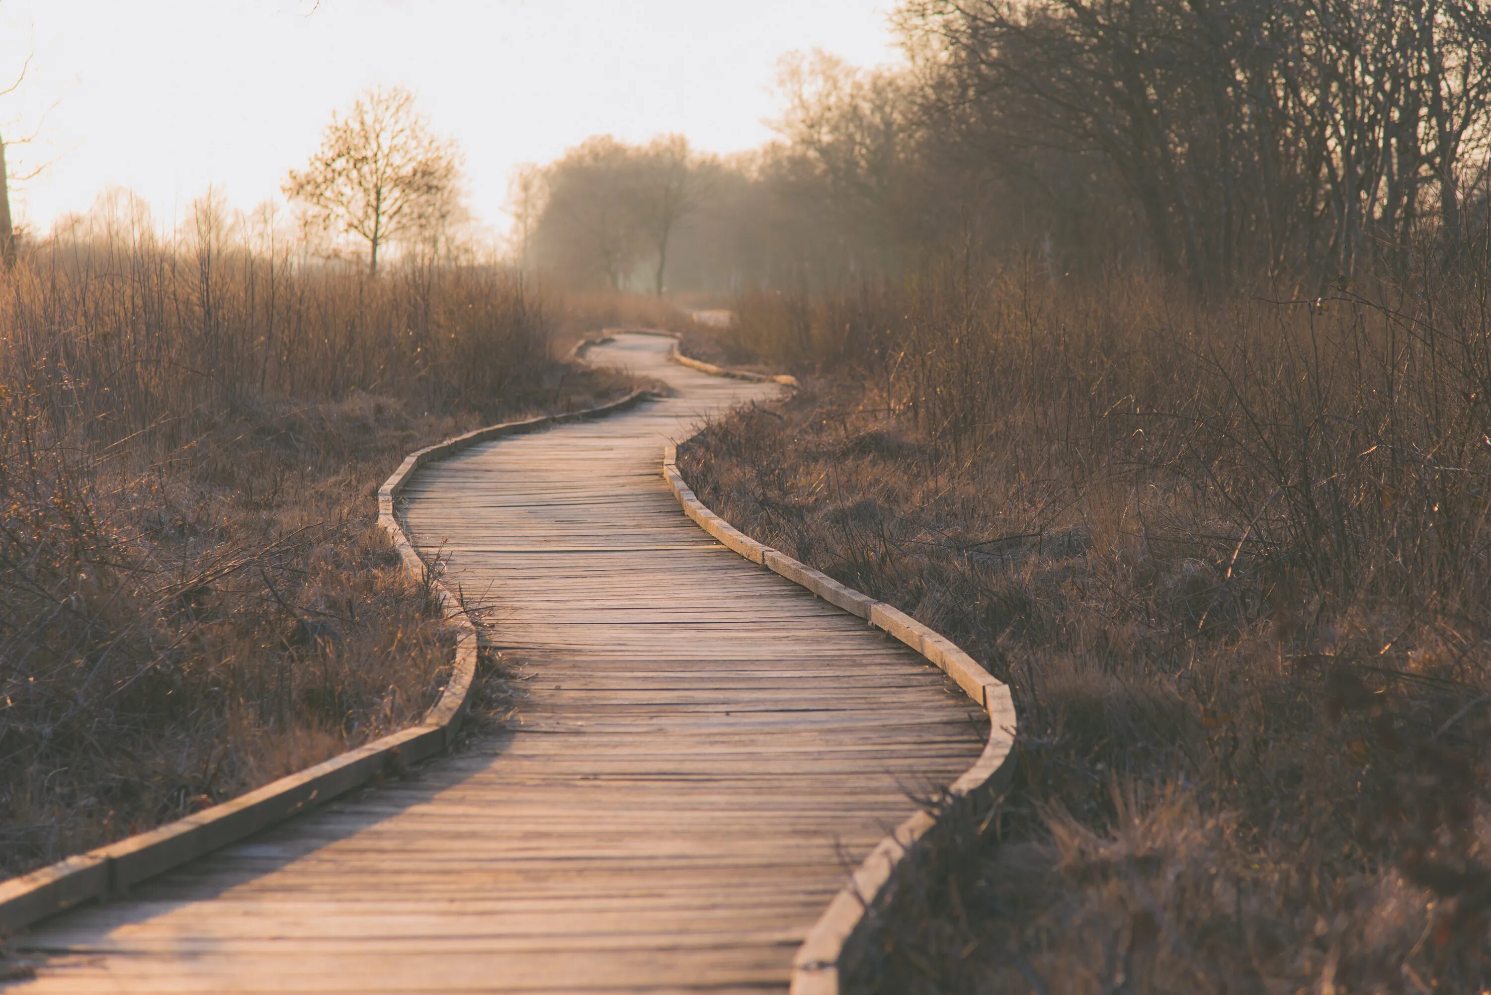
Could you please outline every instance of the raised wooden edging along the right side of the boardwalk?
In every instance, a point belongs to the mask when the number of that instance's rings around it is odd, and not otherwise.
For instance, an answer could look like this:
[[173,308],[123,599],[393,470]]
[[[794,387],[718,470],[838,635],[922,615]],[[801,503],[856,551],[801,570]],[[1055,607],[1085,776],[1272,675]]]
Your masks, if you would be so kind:
[[[647,334],[668,333],[649,331]],[[669,358],[675,362],[717,376],[738,376],[741,373],[722,370],[713,364],[681,357],[677,342],[677,336],[674,336]],[[792,377],[768,377],[756,373],[744,379],[777,380],[778,383],[796,386],[796,380]],[[1009,756],[1018,722],[1009,688],[980,667],[978,661],[959,649],[953,640],[923,625],[905,612],[883,601],[875,601],[869,595],[860,594],[737,530],[699,501],[693,489],[678,474],[677,464],[678,446],[669,442],[663,449],[662,476],[678,500],[678,504],[683,506],[684,513],[698,522],[704,531],[751,562],[768,567],[787,580],[807,588],[829,604],[850,615],[857,615],[875,628],[901,640],[930,664],[947,673],[962,688],[963,694],[989,713],[989,741],[984,744],[974,765],[948,786],[948,804],[941,812],[948,812],[960,800],[975,792],[1002,791],[1012,774]],[[871,850],[869,856],[854,870],[848,883],[833,897],[828,908],[808,931],[808,937],[802,941],[802,946],[798,947],[792,959],[790,995],[839,995],[839,971],[844,967],[842,961],[850,941],[865,926],[866,913],[886,892],[896,868],[917,841],[936,825],[936,816],[924,810],[917,812]]]

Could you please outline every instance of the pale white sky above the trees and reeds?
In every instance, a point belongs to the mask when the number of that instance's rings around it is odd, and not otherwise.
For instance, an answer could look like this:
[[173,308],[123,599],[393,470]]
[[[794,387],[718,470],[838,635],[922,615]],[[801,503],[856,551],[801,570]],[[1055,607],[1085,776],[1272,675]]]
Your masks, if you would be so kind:
[[[505,228],[514,164],[596,133],[680,131],[711,152],[771,136],[777,60],[898,58],[893,0],[0,0],[0,97],[15,192],[46,230],[128,186],[167,225],[209,185],[279,195],[334,109],[371,84],[419,95],[467,155],[477,218]],[[55,104],[55,107],[54,107]],[[42,119],[43,112],[52,107]],[[19,161],[15,161],[19,160]]]

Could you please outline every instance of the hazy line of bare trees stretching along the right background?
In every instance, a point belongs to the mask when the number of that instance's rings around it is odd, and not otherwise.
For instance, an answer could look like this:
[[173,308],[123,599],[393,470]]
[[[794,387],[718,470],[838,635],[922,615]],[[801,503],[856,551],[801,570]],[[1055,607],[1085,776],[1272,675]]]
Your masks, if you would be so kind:
[[653,291],[832,283],[950,249],[1197,286],[1349,280],[1485,210],[1479,0],[905,0],[893,16],[901,67],[784,61],[765,148],[592,139],[529,169],[525,258]]

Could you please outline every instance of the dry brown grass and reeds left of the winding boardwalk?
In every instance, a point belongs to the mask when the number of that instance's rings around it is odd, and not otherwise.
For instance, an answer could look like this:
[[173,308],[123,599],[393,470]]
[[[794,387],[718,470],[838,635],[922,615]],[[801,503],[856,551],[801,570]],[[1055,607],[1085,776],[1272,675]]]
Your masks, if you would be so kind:
[[625,389],[491,267],[370,282],[200,212],[0,277],[0,874],[406,725],[449,638],[376,527],[403,455]]

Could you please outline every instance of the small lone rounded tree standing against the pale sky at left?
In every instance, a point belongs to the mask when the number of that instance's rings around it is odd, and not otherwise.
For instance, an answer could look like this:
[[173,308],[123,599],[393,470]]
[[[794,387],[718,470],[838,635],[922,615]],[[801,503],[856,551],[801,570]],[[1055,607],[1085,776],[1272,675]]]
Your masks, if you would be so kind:
[[304,170],[291,170],[285,194],[310,221],[368,246],[368,271],[398,239],[428,237],[459,209],[461,154],[431,133],[414,95],[382,87],[358,97],[346,118],[332,115]]

